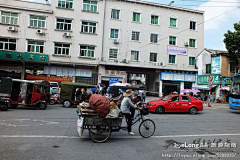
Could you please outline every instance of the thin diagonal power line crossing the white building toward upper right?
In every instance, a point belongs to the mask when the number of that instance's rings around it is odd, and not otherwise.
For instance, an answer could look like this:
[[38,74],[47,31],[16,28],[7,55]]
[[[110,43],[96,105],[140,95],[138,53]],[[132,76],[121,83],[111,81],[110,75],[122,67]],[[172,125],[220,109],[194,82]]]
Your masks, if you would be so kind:
[[[225,14],[227,14],[227,13],[229,13],[229,12],[232,12],[233,10],[238,9],[238,8],[239,8],[239,7],[236,7],[236,8],[234,8],[234,9],[231,9],[231,10],[227,11],[227,12],[224,12],[224,13],[222,13],[222,14],[219,14],[219,15],[213,17],[213,18],[210,18],[210,19],[208,19],[208,20],[206,20],[206,21],[203,21],[203,22],[197,24],[197,26],[202,25],[202,24],[204,24],[204,23],[206,23],[206,22],[209,22],[209,21],[211,21],[211,20],[213,20],[213,19],[215,19],[215,18],[218,18],[218,17],[220,17],[220,16],[222,16],[222,15],[225,15]],[[186,29],[184,29],[184,30],[182,30],[182,31],[179,31],[179,32],[175,33],[174,35],[178,35],[178,34],[180,34],[180,33],[182,33],[182,32],[187,31],[187,30],[189,30],[189,28],[186,28]],[[165,40],[165,39],[168,39],[168,36],[160,39],[159,42],[162,41],[162,40]],[[148,44],[143,45],[143,46],[141,46],[141,47],[139,47],[139,48],[136,48],[136,49],[141,49],[141,48],[146,47],[146,46],[148,46],[148,45],[150,45],[150,44],[151,44],[151,43],[148,43]],[[128,50],[128,51],[119,53],[118,55],[127,54],[127,53],[130,52],[130,51],[131,51],[131,50]]]

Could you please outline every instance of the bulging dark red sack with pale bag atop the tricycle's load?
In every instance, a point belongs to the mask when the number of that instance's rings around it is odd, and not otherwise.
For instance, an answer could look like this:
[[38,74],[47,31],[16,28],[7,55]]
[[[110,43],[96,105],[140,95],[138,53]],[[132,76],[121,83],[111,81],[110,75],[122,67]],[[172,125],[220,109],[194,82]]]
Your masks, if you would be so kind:
[[103,118],[117,118],[120,110],[114,102],[100,94],[93,94],[89,99],[89,106]]

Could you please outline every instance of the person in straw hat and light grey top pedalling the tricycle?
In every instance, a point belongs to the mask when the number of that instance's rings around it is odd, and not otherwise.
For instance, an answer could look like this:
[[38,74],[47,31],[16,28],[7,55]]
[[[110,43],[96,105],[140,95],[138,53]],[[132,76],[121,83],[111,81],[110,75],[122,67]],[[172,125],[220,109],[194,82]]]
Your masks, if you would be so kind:
[[123,94],[124,98],[121,103],[121,111],[127,120],[129,135],[134,135],[134,133],[132,132],[132,115],[131,115],[132,113],[130,111],[130,108],[141,109],[132,103],[130,99],[132,94],[133,94],[133,91],[131,91],[130,89],[127,89],[126,92]]

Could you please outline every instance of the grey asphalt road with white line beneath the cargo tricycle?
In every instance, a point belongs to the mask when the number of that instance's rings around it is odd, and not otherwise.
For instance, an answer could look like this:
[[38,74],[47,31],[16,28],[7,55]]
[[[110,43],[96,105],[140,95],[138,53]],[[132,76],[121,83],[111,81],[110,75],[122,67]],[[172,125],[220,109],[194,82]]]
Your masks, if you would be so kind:
[[[149,114],[156,124],[151,138],[142,138],[137,125],[134,136],[114,132],[101,144],[93,143],[87,130],[79,138],[75,111],[61,105],[43,111],[0,111],[0,160],[240,159],[240,111],[204,108],[196,115]],[[190,147],[194,142],[209,146]]]

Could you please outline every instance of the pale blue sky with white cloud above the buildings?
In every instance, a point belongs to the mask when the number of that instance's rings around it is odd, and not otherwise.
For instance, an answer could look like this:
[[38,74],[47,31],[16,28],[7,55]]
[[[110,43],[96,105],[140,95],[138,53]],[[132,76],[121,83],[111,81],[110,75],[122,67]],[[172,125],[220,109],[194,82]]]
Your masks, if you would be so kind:
[[[45,0],[29,0],[46,3]],[[51,3],[52,0],[49,0]],[[172,0],[145,0],[169,4]],[[223,43],[224,33],[233,31],[233,24],[240,21],[240,0],[175,0],[172,6],[197,9],[205,12],[204,48],[226,50]],[[238,8],[237,8],[238,7]],[[236,8],[236,9],[235,9]],[[233,10],[234,9],[234,10]],[[233,10],[231,12],[228,12]],[[228,12],[224,14],[225,12]],[[222,16],[219,16],[223,14]],[[216,17],[218,16],[218,17]],[[214,18],[216,17],[216,18]],[[214,19],[212,19],[214,18]],[[210,20],[212,19],[212,20]]]

